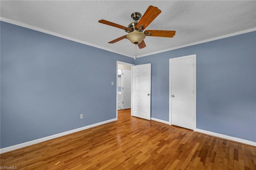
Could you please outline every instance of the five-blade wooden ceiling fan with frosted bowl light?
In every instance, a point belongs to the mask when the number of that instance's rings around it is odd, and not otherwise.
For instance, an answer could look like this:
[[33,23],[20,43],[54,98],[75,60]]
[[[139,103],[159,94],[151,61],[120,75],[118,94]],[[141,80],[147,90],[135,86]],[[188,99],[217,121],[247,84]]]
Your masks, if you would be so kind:
[[[166,30],[146,30],[143,33],[143,30],[161,13],[161,10],[159,10],[157,7],[149,6],[146,10],[145,14],[141,17],[141,14],[139,12],[132,13],[131,17],[134,20],[134,22],[130,23],[128,27],[121,26],[119,24],[115,24],[113,22],[109,22],[106,20],[99,20],[100,23],[106,24],[109,26],[113,26],[116,28],[120,28],[124,30],[125,32],[128,32],[127,35],[124,35],[122,37],[119,37],[115,40],[112,40],[108,43],[116,43],[123,39],[130,40],[131,43],[138,44],[138,47],[144,48],[146,47],[146,44],[144,42],[144,38],[146,36],[153,36],[153,37],[167,37],[172,38],[175,35],[176,31],[166,31]],[[140,19],[141,18],[141,19]],[[138,22],[138,20],[140,20]]]

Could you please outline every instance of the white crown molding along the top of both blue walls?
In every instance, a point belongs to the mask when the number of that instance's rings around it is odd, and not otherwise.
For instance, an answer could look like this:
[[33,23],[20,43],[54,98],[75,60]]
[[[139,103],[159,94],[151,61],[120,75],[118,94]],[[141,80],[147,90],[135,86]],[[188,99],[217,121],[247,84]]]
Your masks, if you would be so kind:
[[[113,53],[117,53],[117,54],[120,54],[120,55],[124,55],[124,56],[127,56],[127,57],[134,58],[134,56],[132,56],[132,55],[127,55],[127,54],[124,54],[124,53],[120,53],[118,51],[114,51],[114,50],[111,50],[111,49],[108,49],[108,48],[104,48],[104,47],[101,47],[101,46],[98,46],[98,45],[95,45],[95,44],[92,44],[92,43],[88,43],[88,42],[84,42],[84,41],[81,41],[81,40],[78,40],[78,39],[75,39],[75,38],[64,36],[64,35],[58,34],[56,32],[51,32],[51,31],[44,30],[44,29],[39,28],[39,27],[31,26],[29,24],[24,24],[22,22],[18,22],[18,21],[15,21],[15,20],[10,20],[8,18],[0,17],[0,21],[7,22],[7,23],[10,23],[10,24],[14,24],[14,25],[17,25],[17,26],[21,26],[21,27],[24,27],[24,28],[29,28],[31,30],[36,30],[36,31],[39,31],[39,32],[43,32],[43,33],[46,33],[46,34],[50,34],[52,36],[64,38],[66,40],[71,40],[73,42],[82,43],[82,44],[85,44],[85,45],[89,45],[89,46],[92,46],[92,47],[96,47],[96,48],[99,48],[99,49],[103,49],[103,50],[106,50],[106,51],[110,51],[110,52],[113,52]],[[152,52],[152,53],[147,53],[145,55],[138,55],[137,58],[145,57],[145,56],[153,55],[153,54],[157,54],[157,53],[162,53],[162,52],[166,52],[166,51],[172,51],[174,49],[184,48],[184,47],[188,47],[188,46],[192,46],[192,45],[197,45],[197,44],[200,44],[200,43],[206,43],[206,42],[211,42],[211,41],[215,41],[215,40],[220,40],[220,39],[223,39],[223,38],[237,36],[237,35],[240,35],[240,34],[245,34],[245,33],[253,32],[253,31],[256,31],[256,28],[250,28],[248,30],[234,32],[234,33],[231,33],[231,34],[226,34],[224,36],[218,36],[218,37],[210,38],[210,39],[207,39],[207,40],[202,40],[202,41],[198,41],[198,42],[194,42],[194,43],[188,43],[188,44],[180,45],[180,46],[177,46],[177,47],[172,47],[172,48],[168,48],[168,49],[164,49],[164,50],[160,50],[160,51],[156,51],[156,52]]]

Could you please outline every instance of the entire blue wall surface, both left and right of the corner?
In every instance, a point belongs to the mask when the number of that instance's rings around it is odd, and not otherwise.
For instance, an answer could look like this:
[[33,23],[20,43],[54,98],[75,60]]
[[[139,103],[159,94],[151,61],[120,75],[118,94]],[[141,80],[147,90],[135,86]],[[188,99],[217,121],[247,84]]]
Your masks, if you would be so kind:
[[[116,118],[116,61],[134,59],[0,27],[0,148]],[[191,54],[197,128],[256,142],[256,32],[136,59],[152,63],[152,117],[169,121],[169,59]]]

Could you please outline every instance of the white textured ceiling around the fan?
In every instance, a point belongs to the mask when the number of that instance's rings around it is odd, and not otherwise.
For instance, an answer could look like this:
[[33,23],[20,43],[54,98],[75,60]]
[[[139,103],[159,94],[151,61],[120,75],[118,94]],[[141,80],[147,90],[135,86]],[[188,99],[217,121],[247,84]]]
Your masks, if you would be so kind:
[[127,33],[98,20],[127,27],[133,22],[130,17],[133,12],[143,15],[150,5],[162,13],[146,29],[175,30],[176,35],[174,38],[147,36],[144,40],[147,46],[137,49],[137,57],[256,28],[256,1],[1,0],[0,17],[2,21],[134,57],[135,45],[129,40],[108,43]]

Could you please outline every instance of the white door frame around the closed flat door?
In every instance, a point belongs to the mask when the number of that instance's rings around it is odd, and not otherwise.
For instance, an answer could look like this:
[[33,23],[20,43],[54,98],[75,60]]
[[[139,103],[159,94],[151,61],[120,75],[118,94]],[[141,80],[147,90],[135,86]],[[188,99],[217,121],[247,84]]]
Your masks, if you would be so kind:
[[[193,130],[196,132],[196,54],[193,54],[193,55],[186,55],[186,56],[183,56],[183,57],[176,57],[176,58],[170,58],[169,59],[169,65],[170,65],[170,61],[171,60],[175,60],[175,59],[185,59],[185,58],[191,58],[193,57],[194,59],[194,71],[193,71],[193,74],[194,74],[194,128]],[[171,68],[169,67],[169,125],[172,125],[172,97],[171,97]]]

